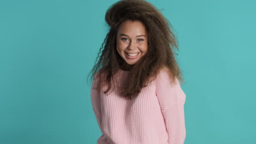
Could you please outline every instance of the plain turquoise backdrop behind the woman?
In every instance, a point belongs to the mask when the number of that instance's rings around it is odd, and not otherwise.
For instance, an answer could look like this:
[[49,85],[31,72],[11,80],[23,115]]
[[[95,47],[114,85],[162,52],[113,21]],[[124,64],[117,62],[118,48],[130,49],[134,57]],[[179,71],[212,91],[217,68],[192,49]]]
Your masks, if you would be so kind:
[[[0,0],[0,143],[96,143],[86,76],[114,2]],[[185,143],[255,143],[256,1],[149,2],[179,41]]]

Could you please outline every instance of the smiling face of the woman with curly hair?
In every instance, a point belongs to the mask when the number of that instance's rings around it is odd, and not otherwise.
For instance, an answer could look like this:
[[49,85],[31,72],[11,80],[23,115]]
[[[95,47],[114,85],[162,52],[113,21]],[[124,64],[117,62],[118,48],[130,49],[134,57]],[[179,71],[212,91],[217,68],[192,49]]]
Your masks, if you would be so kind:
[[117,32],[117,51],[124,59],[123,69],[130,70],[133,64],[148,51],[148,35],[141,21],[124,21]]

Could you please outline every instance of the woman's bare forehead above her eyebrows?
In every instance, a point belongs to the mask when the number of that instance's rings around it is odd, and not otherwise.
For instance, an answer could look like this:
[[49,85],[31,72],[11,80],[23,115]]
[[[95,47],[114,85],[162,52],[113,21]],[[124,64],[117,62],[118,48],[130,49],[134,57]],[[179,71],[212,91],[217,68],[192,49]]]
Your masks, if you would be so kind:
[[124,21],[121,23],[119,29],[118,29],[118,34],[127,34],[127,35],[141,35],[147,34],[146,27],[143,25],[141,21]]

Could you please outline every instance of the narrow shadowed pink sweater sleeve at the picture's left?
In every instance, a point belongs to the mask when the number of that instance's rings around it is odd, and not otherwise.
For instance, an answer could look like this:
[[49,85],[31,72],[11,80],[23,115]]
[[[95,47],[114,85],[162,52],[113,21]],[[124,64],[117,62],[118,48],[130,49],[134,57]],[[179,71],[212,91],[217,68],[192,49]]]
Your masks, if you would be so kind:
[[[97,75],[97,74],[96,74]],[[97,91],[96,87],[98,85],[98,79],[97,77],[94,77],[92,80],[92,86],[91,86],[91,104],[92,104],[92,110],[94,110],[95,117],[97,119],[98,126],[100,127],[100,130],[102,131],[101,127],[101,121],[102,121],[102,115],[101,115],[101,97],[100,92]]]

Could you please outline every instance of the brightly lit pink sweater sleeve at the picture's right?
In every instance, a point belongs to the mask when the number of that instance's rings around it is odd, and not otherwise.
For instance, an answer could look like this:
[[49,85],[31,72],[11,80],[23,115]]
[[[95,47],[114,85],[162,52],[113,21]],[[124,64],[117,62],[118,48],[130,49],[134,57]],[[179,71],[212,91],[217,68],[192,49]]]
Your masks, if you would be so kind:
[[168,143],[183,144],[186,136],[184,104],[186,95],[182,91],[177,77],[176,83],[170,82],[165,70],[156,80],[156,96],[158,97],[162,115],[165,119]]

